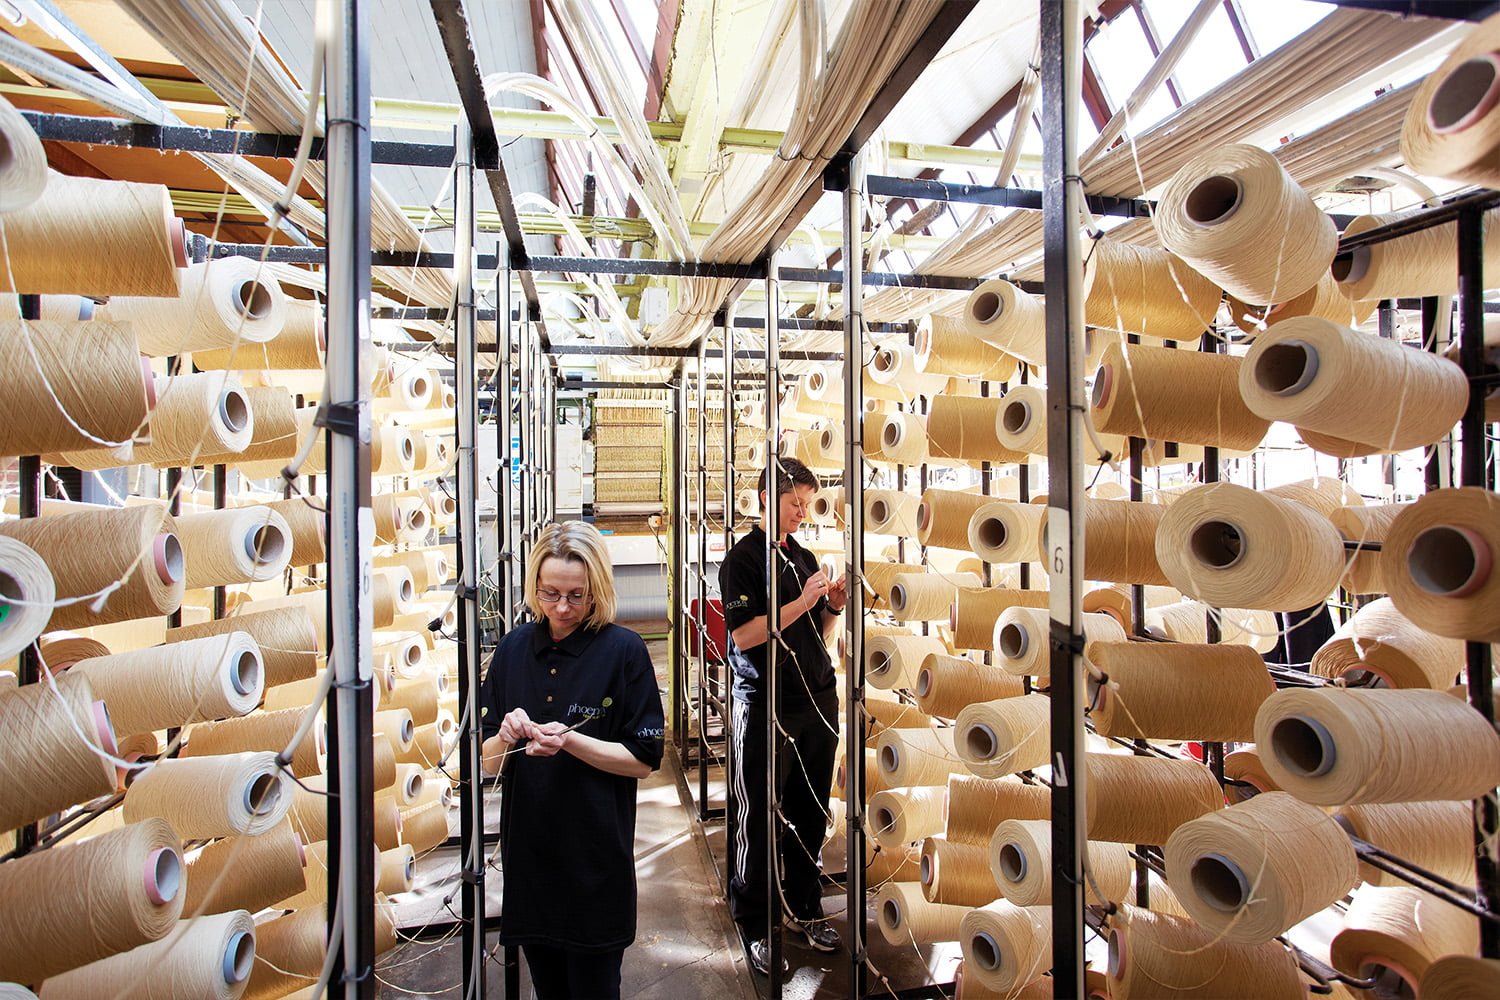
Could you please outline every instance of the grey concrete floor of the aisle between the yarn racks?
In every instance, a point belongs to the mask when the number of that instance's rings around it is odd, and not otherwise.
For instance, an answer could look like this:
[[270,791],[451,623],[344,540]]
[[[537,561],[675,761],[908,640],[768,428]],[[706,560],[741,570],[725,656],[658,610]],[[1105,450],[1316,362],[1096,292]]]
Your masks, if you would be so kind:
[[[648,642],[666,700],[666,643]],[[670,711],[670,709],[669,709]],[[756,1000],[768,996],[768,981],[753,976],[744,949],[723,901],[718,873],[724,865],[723,820],[698,822],[698,768],[687,774],[674,751],[662,769],[640,783],[636,816],[636,877],[639,886],[638,937],[626,951],[621,994],[624,997],[669,997],[670,1000]],[[723,805],[723,772],[710,769],[710,804]],[[454,810],[456,816],[456,810]],[[500,808],[488,810],[488,828],[498,823]],[[489,912],[500,913],[498,859],[486,880]],[[842,838],[830,841],[824,868],[843,870]],[[430,922],[450,921],[458,910],[458,852],[436,850],[417,864],[416,889],[394,898],[398,925],[408,933]],[[848,937],[843,888],[832,880],[824,901],[825,912]],[[951,984],[958,961],[954,945],[934,948],[894,948],[886,945],[868,921],[870,994],[888,996],[928,984]],[[486,972],[486,997],[506,997],[501,954],[494,949]],[[848,997],[848,952],[820,954],[794,934],[783,936],[789,964],[783,979],[786,1000]],[[525,963],[520,963],[522,990],[507,1000],[530,1000]],[[417,997],[462,997],[460,952],[458,937],[436,943],[411,942],[382,955],[376,967],[381,1000]],[[882,982],[884,978],[884,982]],[[946,990],[951,996],[951,988]],[[579,997],[578,1000],[588,1000]]]

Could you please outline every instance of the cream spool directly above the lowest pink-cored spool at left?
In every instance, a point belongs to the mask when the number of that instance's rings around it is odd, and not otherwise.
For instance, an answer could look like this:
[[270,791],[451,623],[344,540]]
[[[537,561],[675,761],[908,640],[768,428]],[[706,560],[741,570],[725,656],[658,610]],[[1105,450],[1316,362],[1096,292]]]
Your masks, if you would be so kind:
[[291,778],[273,753],[168,757],[124,793],[128,823],[154,816],[190,840],[264,834],[290,808]]

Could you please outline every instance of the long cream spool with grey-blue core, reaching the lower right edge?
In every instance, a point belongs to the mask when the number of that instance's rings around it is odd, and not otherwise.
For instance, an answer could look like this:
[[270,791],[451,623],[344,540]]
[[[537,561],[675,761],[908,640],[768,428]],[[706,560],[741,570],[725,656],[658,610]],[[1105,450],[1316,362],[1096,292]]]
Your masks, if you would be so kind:
[[1256,744],[1278,786],[1318,805],[1472,799],[1500,784],[1500,735],[1443,691],[1276,691]]

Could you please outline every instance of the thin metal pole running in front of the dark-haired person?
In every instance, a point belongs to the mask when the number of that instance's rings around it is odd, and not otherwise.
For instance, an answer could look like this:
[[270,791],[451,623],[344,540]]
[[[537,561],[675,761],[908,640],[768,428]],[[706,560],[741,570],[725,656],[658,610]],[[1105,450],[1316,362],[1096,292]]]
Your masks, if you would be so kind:
[[765,493],[765,579],[770,589],[766,604],[765,642],[765,858],[760,864],[766,871],[766,943],[771,960],[771,1000],[782,1000],[782,892],[777,873],[782,870],[782,796],[776,787],[778,768],[777,720],[782,715],[782,502],[778,481],[782,456],[777,441],[782,436],[782,282],[776,274],[777,255],[771,253],[765,268],[765,438],[766,477]]

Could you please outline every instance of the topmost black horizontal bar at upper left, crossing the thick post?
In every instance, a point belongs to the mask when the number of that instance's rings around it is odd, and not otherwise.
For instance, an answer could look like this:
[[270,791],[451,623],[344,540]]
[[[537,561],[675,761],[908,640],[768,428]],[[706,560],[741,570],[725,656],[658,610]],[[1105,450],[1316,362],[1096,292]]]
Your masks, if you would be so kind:
[[[202,129],[192,124],[141,124],[122,118],[88,118],[74,114],[44,114],[22,111],[40,139],[56,142],[88,142],[92,145],[124,145],[174,153],[224,153],[292,159],[302,136],[248,132],[244,129]],[[324,141],[318,136],[309,156],[322,159]],[[370,142],[372,163],[402,166],[453,165],[453,145],[442,142]]]

